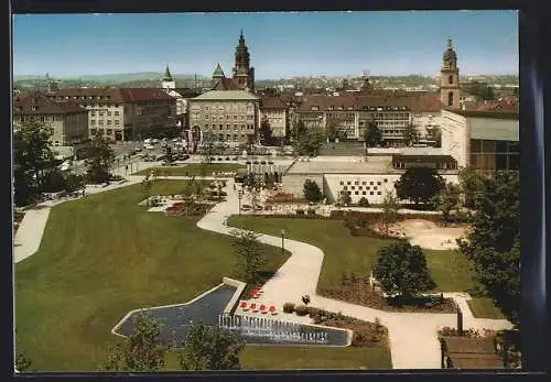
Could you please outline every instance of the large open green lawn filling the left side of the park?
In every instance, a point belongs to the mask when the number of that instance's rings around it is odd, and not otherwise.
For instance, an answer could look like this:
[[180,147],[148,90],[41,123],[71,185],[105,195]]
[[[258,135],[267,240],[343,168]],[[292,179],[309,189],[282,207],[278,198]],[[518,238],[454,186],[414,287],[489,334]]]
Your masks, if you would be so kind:
[[[151,195],[177,194],[158,181]],[[90,371],[131,309],[187,302],[230,276],[231,238],[137,204],[141,185],[88,195],[50,214],[39,252],[15,265],[17,350],[37,371]],[[284,261],[267,247],[269,268]]]

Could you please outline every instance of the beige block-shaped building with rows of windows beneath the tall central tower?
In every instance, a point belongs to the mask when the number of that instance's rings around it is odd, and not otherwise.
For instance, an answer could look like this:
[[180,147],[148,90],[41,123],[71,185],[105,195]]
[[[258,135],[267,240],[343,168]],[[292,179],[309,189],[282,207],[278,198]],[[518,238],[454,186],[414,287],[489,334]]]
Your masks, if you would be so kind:
[[210,90],[188,99],[190,129],[195,141],[205,132],[218,141],[245,143],[257,139],[259,99],[246,90]]

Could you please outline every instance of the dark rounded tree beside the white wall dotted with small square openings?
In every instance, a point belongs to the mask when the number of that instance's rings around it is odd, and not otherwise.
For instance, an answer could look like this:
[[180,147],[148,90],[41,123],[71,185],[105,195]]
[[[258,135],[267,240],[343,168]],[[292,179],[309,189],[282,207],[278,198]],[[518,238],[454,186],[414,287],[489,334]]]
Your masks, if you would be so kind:
[[431,167],[410,167],[395,183],[400,199],[428,204],[444,186],[444,179]]

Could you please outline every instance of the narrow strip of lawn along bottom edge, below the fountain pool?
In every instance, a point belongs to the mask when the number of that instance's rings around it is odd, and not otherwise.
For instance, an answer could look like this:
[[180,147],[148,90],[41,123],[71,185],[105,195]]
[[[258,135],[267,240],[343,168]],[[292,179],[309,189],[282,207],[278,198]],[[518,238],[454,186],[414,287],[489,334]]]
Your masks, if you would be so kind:
[[[392,369],[390,351],[381,348],[337,348],[247,345],[241,353],[245,370],[289,369]],[[179,370],[175,353],[166,358],[168,370]]]

